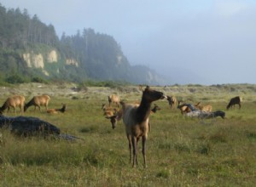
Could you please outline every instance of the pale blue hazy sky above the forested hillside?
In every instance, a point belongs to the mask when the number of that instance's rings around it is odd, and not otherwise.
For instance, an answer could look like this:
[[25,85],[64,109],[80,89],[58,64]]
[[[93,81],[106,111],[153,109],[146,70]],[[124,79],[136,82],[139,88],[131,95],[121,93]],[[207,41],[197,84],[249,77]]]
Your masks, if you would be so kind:
[[0,0],[61,37],[114,37],[131,65],[170,83],[256,83],[256,0]]

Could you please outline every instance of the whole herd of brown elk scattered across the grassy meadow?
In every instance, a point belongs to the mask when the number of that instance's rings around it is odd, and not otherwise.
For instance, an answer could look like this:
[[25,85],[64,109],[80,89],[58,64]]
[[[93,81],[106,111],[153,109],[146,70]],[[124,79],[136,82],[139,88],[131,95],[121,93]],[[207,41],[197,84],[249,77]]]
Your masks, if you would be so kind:
[[[111,94],[108,96],[108,105],[102,104],[103,116],[110,120],[112,128],[114,129],[117,122],[120,120],[125,124],[125,134],[128,140],[130,150],[130,161],[133,167],[137,165],[137,142],[142,139],[142,153],[144,166],[147,166],[146,161],[146,141],[148,139],[148,132],[150,132],[150,120],[149,117],[154,115],[157,111],[160,111],[160,106],[155,104],[154,101],[160,99],[166,99],[168,101],[171,110],[180,110],[182,115],[185,116],[198,116],[198,117],[225,117],[224,111],[212,111],[212,105],[202,105],[201,102],[197,102],[195,105],[191,103],[183,103],[175,96],[167,96],[160,91],[156,91],[148,86],[146,88],[140,87],[142,91],[142,98],[140,102],[127,103],[121,100],[118,95]],[[49,95],[38,95],[32,97],[27,103],[26,99],[22,95],[15,95],[6,99],[3,105],[0,107],[0,115],[10,108],[13,108],[16,113],[16,108],[20,108],[20,113],[26,112],[31,106],[34,106],[34,111],[38,108],[41,111],[41,106],[44,106],[45,111],[49,114],[56,114],[59,112],[64,113],[66,111],[66,105],[62,104],[59,109],[49,109]],[[235,105],[239,105],[241,108],[241,97],[237,96],[230,99],[226,109],[229,110]],[[151,108],[152,104],[153,108]]]

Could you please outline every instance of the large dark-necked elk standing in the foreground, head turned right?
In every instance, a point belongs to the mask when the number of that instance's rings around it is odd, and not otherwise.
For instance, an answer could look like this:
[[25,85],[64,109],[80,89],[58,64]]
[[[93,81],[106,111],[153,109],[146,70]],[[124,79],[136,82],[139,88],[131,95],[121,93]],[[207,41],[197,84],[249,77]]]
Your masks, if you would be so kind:
[[150,106],[152,102],[158,99],[164,99],[163,93],[155,91],[148,86],[143,90],[143,96],[140,105],[122,104],[123,122],[125,123],[125,133],[129,142],[130,161],[131,145],[133,150],[132,166],[137,164],[137,142],[143,139],[143,161],[146,167],[146,140],[148,138],[148,121],[150,115]]

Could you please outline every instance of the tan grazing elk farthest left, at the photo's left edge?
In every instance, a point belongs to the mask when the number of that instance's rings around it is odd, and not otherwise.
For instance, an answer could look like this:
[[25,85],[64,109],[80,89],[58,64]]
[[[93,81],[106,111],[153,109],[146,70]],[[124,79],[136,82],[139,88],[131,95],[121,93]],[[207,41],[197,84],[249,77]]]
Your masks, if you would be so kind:
[[24,111],[24,105],[25,105],[25,97],[22,95],[15,95],[13,97],[9,97],[5,100],[2,107],[0,108],[0,113],[3,114],[3,111],[6,109],[9,112],[9,108],[14,108],[14,112],[16,114],[16,107],[20,107],[20,113],[22,114]]

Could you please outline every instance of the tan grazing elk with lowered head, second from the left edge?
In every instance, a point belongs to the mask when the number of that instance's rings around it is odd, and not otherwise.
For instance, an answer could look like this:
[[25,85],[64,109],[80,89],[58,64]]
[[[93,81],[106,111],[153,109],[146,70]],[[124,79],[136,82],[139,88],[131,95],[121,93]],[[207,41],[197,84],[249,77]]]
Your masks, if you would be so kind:
[[39,111],[41,111],[42,105],[45,106],[46,111],[48,110],[48,104],[49,104],[49,95],[38,95],[34,96],[25,106],[24,106],[24,111],[28,109],[28,107],[34,105],[34,111],[36,111],[36,108],[38,107]]

